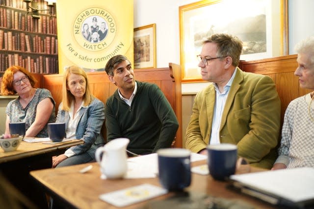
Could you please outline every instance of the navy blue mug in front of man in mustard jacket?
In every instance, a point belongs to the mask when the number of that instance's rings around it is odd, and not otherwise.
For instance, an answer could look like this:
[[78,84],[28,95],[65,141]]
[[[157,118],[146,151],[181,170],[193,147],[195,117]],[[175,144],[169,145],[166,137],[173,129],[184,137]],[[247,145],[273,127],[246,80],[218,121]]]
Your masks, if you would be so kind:
[[235,174],[237,148],[235,144],[221,143],[207,146],[209,174],[224,181]]

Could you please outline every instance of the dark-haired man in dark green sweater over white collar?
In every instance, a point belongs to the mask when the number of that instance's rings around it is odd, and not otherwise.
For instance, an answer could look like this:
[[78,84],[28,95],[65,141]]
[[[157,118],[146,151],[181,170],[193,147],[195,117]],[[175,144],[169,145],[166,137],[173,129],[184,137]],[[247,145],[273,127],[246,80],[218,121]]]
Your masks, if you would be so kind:
[[128,138],[128,150],[139,155],[170,147],[179,123],[157,85],[135,81],[131,62],[123,55],[112,57],[105,71],[118,87],[105,105],[107,141]]

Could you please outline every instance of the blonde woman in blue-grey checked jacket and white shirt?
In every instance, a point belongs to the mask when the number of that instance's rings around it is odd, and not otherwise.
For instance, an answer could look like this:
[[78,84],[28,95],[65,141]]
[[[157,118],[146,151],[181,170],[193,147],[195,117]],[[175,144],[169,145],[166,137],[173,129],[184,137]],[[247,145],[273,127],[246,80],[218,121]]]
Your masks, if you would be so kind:
[[68,139],[81,139],[84,143],[53,157],[52,167],[92,162],[95,150],[105,143],[101,135],[104,103],[92,95],[85,71],[76,66],[64,72],[62,91],[56,122],[65,123]]

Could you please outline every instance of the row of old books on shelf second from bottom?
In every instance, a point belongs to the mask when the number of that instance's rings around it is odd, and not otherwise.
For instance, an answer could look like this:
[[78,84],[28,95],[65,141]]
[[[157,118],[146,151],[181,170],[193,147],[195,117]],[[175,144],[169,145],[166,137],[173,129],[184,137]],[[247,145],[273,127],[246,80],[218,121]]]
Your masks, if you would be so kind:
[[58,40],[55,36],[27,35],[0,29],[0,50],[57,54]]

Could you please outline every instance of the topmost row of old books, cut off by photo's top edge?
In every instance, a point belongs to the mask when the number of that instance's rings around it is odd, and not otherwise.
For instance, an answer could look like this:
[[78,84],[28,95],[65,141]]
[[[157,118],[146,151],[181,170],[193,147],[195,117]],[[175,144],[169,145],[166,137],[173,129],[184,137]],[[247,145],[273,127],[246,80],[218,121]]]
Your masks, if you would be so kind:
[[[37,4],[36,8],[49,10],[47,1],[45,0],[32,0],[32,1]],[[10,6],[10,7],[19,8],[19,9],[26,9],[26,3],[23,0],[0,0],[0,5]],[[29,6],[32,6],[32,5],[29,5]],[[49,11],[40,11],[40,12],[43,14],[49,14]],[[55,7],[53,7],[52,9],[52,15],[54,14],[55,14]]]

